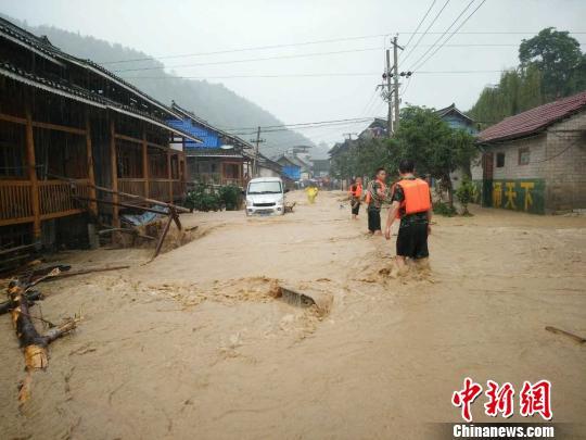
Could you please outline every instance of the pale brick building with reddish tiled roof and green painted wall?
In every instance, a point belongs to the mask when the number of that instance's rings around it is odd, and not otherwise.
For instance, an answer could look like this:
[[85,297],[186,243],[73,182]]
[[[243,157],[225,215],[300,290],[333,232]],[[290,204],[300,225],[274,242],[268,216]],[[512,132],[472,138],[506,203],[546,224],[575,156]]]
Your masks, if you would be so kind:
[[586,209],[586,91],[507,117],[479,134],[479,147],[472,179],[483,205]]

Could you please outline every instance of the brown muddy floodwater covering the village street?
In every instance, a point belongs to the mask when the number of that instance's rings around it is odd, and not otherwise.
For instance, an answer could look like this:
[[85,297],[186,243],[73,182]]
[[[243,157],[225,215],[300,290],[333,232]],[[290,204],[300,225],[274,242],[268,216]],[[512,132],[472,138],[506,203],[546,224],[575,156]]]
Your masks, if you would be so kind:
[[[148,249],[59,254],[131,268],[40,285],[34,313],[82,322],[22,408],[24,361],[0,316],[0,437],[425,439],[461,419],[450,401],[467,376],[550,380],[555,422],[586,437],[586,347],[545,330],[586,336],[584,216],[435,217],[431,272],[393,278],[394,238],[367,236],[341,197],[293,192],[282,217],[181,216],[194,240],[149,264]],[[275,299],[278,286],[332,307]]]

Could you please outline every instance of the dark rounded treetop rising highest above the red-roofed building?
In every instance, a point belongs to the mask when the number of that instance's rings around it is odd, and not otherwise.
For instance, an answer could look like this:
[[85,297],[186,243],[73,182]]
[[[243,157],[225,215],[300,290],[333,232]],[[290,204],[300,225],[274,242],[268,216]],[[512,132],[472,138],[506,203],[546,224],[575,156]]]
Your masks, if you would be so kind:
[[521,67],[536,66],[542,73],[546,100],[566,97],[584,87],[585,55],[579,42],[568,32],[543,29],[519,47]]

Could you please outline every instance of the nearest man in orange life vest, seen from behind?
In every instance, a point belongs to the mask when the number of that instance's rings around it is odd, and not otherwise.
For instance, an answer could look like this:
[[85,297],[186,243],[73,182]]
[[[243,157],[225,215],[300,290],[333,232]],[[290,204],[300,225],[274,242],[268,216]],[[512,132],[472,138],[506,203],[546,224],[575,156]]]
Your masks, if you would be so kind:
[[399,164],[400,180],[397,181],[386,218],[385,238],[391,239],[391,227],[400,215],[397,236],[397,265],[405,266],[405,259],[421,261],[430,256],[428,236],[431,234],[432,203],[430,186],[413,176],[415,165],[410,160]]

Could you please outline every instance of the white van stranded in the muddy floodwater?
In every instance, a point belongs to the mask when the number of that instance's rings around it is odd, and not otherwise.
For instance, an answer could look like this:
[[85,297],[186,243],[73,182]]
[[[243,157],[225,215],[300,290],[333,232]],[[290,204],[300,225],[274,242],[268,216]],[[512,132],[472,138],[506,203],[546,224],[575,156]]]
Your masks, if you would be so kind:
[[283,215],[288,191],[280,177],[251,179],[246,188],[246,215]]

